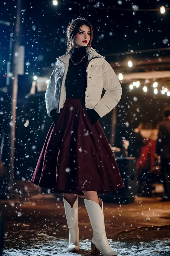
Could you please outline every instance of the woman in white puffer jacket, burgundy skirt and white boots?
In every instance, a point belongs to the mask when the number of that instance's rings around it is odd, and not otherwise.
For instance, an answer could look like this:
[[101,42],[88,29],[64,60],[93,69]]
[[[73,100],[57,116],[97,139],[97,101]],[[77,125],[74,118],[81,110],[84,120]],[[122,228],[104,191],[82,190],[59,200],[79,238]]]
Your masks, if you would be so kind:
[[[31,182],[64,193],[69,251],[79,251],[78,195],[85,195],[94,231],[92,253],[117,255],[107,241],[98,194],[124,184],[98,120],[117,105],[122,88],[109,63],[91,47],[93,28],[86,19],[73,20],[66,34],[67,52],[56,58],[45,94],[53,123]],[[106,92],[101,98],[103,87]]]

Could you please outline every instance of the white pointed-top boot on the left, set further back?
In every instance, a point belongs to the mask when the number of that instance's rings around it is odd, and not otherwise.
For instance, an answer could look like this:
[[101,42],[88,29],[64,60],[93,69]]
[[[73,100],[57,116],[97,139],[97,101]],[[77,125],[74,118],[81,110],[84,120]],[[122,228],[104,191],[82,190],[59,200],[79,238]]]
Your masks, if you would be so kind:
[[67,225],[69,228],[69,243],[68,243],[68,250],[72,252],[79,251],[79,212],[78,212],[78,196],[75,200],[73,207],[67,200],[64,198],[63,195],[63,202],[64,202],[64,209],[67,219]]

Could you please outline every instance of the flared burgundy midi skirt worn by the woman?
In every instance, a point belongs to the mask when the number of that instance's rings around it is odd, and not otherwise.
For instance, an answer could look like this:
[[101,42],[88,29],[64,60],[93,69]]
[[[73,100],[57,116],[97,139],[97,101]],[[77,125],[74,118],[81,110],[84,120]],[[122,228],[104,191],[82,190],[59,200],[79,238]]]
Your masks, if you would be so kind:
[[81,99],[66,98],[30,182],[51,193],[81,196],[82,191],[104,194],[124,187],[104,131],[99,121],[91,126]]

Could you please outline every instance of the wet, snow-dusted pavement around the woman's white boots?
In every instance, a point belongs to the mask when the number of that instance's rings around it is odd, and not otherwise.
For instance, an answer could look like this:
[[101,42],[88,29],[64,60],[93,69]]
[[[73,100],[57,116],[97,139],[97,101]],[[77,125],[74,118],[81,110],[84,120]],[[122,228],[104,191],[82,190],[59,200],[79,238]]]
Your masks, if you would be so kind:
[[[103,199],[106,235],[114,251],[119,255],[170,255],[170,202],[161,199],[135,196],[131,204]],[[5,221],[4,256],[70,254],[62,194],[1,200],[0,209]],[[77,254],[90,254],[92,228],[83,196],[79,196],[79,239]]]

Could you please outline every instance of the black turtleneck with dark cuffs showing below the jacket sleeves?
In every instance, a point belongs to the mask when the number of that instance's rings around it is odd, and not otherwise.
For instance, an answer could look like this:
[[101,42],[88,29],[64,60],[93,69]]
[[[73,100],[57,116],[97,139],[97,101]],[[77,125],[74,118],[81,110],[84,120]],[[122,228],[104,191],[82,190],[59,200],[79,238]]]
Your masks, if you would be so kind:
[[[86,55],[86,46],[81,46],[78,48],[73,48],[71,51],[72,56],[69,59],[69,66],[65,80],[66,86],[66,98],[74,98],[81,99],[82,104],[85,107],[85,91],[87,88],[87,73],[86,73],[86,65],[88,61],[88,56]],[[85,58],[81,61],[81,59],[85,56]],[[74,63],[78,63],[74,65]],[[87,108],[87,115],[90,119],[91,125],[96,123],[100,116],[94,109]],[[56,110],[52,110],[50,112],[53,122],[56,119]],[[59,113],[60,114],[60,113]]]

